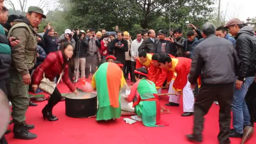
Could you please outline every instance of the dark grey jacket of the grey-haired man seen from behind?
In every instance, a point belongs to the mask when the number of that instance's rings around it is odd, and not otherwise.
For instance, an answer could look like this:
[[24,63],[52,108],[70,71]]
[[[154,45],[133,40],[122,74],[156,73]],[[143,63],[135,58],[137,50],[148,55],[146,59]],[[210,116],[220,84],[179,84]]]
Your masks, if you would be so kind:
[[222,37],[210,35],[194,50],[189,82],[197,83],[197,78],[201,75],[202,85],[234,83],[238,65],[239,59],[233,44]]

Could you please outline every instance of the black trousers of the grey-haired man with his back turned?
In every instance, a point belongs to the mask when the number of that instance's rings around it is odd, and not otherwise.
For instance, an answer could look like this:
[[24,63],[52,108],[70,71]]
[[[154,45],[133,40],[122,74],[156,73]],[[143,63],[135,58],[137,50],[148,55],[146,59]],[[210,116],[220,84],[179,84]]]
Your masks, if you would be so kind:
[[195,135],[203,131],[204,116],[208,113],[213,101],[219,101],[219,143],[229,144],[229,131],[231,121],[231,104],[233,100],[233,83],[225,85],[202,85],[195,99],[194,128]]

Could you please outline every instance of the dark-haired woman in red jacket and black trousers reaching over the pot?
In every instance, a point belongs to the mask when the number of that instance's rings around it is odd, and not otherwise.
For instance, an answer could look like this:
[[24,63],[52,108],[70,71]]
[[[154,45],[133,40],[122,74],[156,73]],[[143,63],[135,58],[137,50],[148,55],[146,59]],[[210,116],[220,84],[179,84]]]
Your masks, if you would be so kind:
[[[69,59],[72,58],[73,55],[73,46],[69,42],[64,42],[61,44],[61,50],[49,53],[46,59],[43,61],[40,66],[37,67],[35,72],[32,75],[33,78],[33,85],[32,88],[34,91],[38,88],[41,80],[44,77],[48,78],[50,81],[54,82],[54,77],[59,75],[60,73],[64,72],[62,80],[64,83],[67,84],[69,89],[78,94],[74,85],[72,85],[69,79]],[[52,114],[53,107],[61,101],[61,93],[59,92],[58,88],[55,87],[51,97],[48,101],[48,104],[42,110],[43,117],[47,118],[49,121],[58,120],[58,118]]]

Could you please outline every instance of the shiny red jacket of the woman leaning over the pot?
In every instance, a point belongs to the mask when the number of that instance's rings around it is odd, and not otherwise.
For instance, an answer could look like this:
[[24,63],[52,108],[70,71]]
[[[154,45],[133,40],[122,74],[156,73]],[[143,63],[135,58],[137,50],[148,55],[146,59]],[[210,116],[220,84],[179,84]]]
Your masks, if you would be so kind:
[[[54,77],[61,74],[63,64],[64,59],[61,51],[49,53],[43,63],[35,69],[35,72],[32,75],[33,84],[40,84],[40,81],[43,79],[43,73],[45,73],[46,78],[54,81]],[[64,75],[62,76],[62,80],[67,84],[71,91],[75,91],[75,86],[72,85],[69,79],[69,68],[67,64],[64,66]]]

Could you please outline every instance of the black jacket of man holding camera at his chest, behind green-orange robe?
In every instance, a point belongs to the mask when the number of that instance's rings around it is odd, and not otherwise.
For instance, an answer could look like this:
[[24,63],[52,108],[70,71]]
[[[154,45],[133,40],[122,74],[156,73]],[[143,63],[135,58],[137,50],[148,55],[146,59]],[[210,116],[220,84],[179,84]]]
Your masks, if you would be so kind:
[[117,58],[117,61],[120,61],[122,64],[125,64],[125,52],[128,51],[128,42],[125,39],[122,39],[120,43],[122,43],[122,47],[115,47],[115,43],[118,43],[118,39],[114,39],[111,42],[110,48],[115,51],[115,57]]

